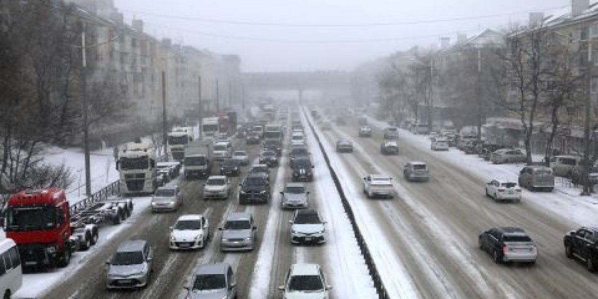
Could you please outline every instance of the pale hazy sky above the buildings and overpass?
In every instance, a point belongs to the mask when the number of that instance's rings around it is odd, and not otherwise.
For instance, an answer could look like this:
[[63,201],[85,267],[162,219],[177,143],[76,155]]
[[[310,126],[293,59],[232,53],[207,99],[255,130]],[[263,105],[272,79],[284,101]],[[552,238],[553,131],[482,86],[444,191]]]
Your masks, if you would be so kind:
[[243,71],[313,71],[350,70],[393,51],[438,43],[440,36],[454,42],[457,32],[472,35],[509,21],[527,22],[531,11],[566,11],[569,2],[115,0],[115,5],[127,22],[144,20],[146,32],[158,38],[239,54]]

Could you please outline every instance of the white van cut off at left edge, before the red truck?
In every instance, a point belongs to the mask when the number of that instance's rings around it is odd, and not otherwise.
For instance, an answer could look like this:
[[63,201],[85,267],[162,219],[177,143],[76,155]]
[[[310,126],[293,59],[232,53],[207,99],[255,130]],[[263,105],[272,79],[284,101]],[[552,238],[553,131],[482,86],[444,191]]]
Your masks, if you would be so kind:
[[[4,234],[4,232],[2,232]],[[19,249],[13,239],[0,241],[0,292],[2,298],[12,298],[23,283]]]

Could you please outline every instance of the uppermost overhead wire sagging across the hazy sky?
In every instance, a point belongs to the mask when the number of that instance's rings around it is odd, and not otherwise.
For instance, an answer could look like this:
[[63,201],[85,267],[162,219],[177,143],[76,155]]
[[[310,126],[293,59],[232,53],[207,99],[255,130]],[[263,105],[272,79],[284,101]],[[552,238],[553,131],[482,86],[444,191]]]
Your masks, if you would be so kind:
[[546,11],[546,10],[554,10],[557,8],[565,8],[566,5],[557,6],[557,7],[547,7],[541,8],[539,10],[522,10],[522,11],[514,11],[511,13],[503,13],[503,14],[487,14],[483,16],[471,16],[471,17],[453,17],[453,18],[446,18],[446,19],[429,19],[429,20],[414,20],[414,21],[405,21],[405,22],[380,22],[380,23],[354,23],[354,24],[305,24],[305,23],[277,23],[277,22],[250,22],[250,21],[236,21],[236,20],[224,20],[224,19],[206,19],[202,17],[186,17],[186,16],[172,16],[167,14],[154,14],[154,13],[147,13],[144,11],[138,10],[129,10],[123,9],[123,11],[128,11],[129,13],[134,14],[142,14],[145,16],[153,16],[153,17],[162,17],[167,19],[177,19],[177,20],[193,20],[202,23],[218,23],[218,24],[228,24],[228,25],[251,25],[251,26],[277,26],[277,27],[372,27],[372,26],[397,26],[397,25],[417,25],[417,24],[425,24],[425,23],[443,23],[443,22],[455,22],[455,21],[463,21],[463,20],[478,20],[478,19],[487,19],[492,17],[503,17],[503,16],[511,16],[513,14],[522,14],[522,13],[531,13],[535,11]]

